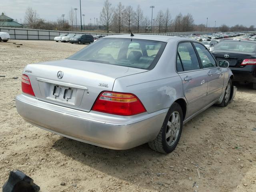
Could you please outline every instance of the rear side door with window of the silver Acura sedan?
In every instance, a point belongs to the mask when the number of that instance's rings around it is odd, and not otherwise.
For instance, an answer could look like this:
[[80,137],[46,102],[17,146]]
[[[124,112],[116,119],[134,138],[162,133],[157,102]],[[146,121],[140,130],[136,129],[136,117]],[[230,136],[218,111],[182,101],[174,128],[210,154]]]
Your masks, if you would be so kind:
[[191,42],[178,44],[176,71],[182,79],[184,96],[188,101],[187,116],[189,117],[206,106],[208,79],[207,71],[201,69]]

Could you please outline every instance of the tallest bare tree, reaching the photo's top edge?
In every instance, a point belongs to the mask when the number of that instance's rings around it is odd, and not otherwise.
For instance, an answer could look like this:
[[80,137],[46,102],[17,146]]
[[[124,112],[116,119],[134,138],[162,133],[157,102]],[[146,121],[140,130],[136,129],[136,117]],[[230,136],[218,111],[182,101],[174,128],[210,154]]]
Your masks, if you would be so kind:
[[112,22],[113,15],[114,15],[114,8],[112,7],[112,4],[108,0],[105,0],[104,6],[100,13],[100,22],[106,28],[107,33],[109,33],[110,24]]

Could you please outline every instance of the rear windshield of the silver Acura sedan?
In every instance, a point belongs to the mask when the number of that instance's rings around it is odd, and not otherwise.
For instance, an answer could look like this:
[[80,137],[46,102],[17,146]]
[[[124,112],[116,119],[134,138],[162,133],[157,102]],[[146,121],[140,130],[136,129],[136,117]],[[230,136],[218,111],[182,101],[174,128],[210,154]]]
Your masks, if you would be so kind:
[[102,38],[68,59],[151,70],[165,46],[159,41]]

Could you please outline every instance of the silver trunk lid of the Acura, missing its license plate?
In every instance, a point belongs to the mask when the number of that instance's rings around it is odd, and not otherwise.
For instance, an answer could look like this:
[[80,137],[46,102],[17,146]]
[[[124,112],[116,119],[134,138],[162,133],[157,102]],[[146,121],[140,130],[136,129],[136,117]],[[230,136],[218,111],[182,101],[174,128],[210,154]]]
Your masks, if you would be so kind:
[[102,91],[112,91],[116,78],[148,70],[78,60],[29,64],[30,78],[38,100],[89,112]]

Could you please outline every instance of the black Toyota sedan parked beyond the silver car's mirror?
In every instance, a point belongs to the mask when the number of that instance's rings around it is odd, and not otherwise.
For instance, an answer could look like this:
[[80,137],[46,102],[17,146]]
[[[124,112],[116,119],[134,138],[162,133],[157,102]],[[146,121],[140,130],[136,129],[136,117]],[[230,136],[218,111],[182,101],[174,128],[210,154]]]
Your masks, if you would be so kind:
[[252,83],[256,89],[256,42],[226,40],[214,46],[216,60],[226,60],[234,73],[234,81]]

